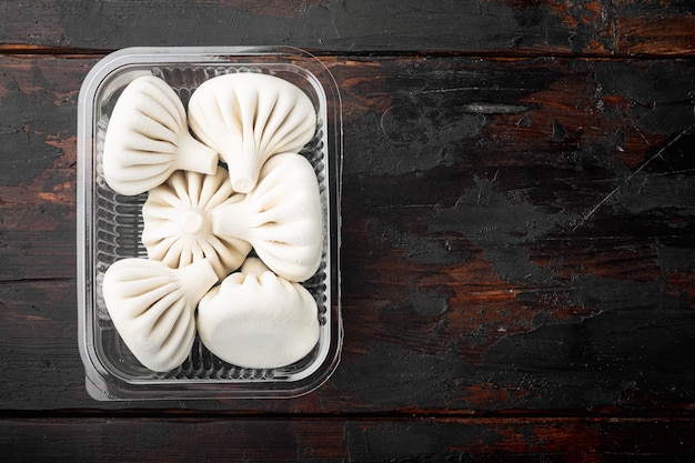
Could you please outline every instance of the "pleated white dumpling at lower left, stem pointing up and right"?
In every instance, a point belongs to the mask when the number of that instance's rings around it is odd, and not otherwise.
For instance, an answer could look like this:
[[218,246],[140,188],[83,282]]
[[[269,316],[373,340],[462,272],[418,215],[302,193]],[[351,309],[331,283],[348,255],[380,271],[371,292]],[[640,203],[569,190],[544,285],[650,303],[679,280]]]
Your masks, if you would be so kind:
[[207,260],[171,269],[149,259],[123,259],[103,278],[113,325],[145,368],[164,372],[188,358],[195,340],[195,305],[218,282]]

